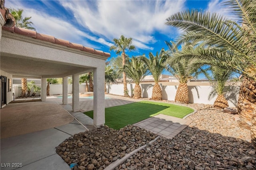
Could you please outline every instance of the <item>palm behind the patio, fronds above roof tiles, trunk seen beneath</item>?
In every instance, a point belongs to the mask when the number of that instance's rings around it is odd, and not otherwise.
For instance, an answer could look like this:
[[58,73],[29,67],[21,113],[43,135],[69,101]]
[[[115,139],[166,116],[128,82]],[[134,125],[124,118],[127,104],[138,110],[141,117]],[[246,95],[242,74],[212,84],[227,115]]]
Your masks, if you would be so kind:
[[[22,13],[23,13],[23,9],[10,9],[10,12],[12,14],[12,16],[14,17],[16,23],[16,27],[20,27],[20,28],[26,28],[26,29],[31,29],[31,30],[36,30],[34,27],[32,27],[33,23],[30,20],[32,17],[25,17],[23,18]],[[22,93],[21,96],[22,97],[26,97],[27,93],[28,93],[28,85],[27,85],[27,79],[26,78],[22,78],[21,79],[22,82]]]

